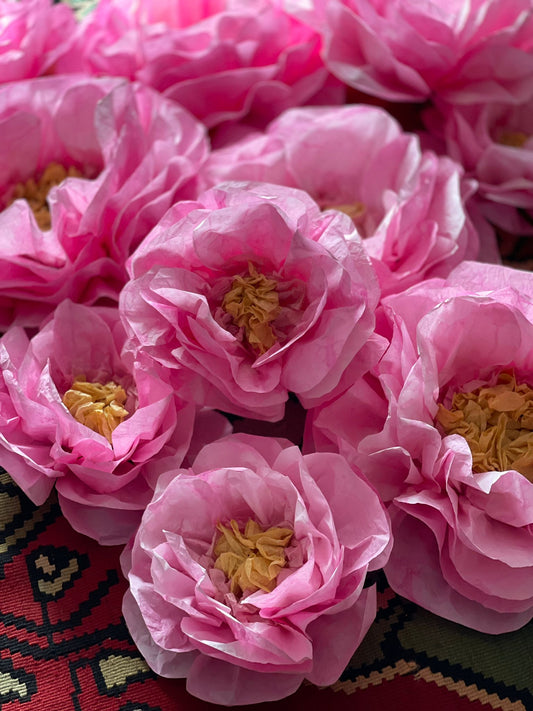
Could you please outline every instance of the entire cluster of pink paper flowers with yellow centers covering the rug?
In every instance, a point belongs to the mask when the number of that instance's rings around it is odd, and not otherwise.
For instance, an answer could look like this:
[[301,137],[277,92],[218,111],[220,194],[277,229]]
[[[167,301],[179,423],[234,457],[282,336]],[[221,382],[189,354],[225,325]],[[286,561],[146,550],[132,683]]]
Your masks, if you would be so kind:
[[150,667],[331,684],[380,569],[531,620],[531,0],[0,17],[0,464],[124,546]]

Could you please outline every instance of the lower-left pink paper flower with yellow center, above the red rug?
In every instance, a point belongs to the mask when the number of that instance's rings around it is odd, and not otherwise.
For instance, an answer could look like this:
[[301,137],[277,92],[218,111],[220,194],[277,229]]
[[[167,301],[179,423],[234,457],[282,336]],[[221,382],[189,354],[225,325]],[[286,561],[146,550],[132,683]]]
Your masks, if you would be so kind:
[[[124,338],[116,309],[65,301],[31,340],[20,327],[0,340],[2,466],[36,504],[55,483],[71,525],[105,544],[135,531],[153,491],[145,465],[181,463],[194,418],[156,367],[121,358]],[[112,384],[111,410],[87,383]]]

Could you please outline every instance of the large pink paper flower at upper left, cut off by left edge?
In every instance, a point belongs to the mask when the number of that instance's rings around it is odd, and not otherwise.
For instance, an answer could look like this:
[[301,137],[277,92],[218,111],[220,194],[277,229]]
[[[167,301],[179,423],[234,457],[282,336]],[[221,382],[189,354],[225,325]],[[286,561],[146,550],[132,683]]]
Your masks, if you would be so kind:
[[124,261],[195,194],[204,129],[156,92],[66,76],[0,87],[0,328],[117,301]]

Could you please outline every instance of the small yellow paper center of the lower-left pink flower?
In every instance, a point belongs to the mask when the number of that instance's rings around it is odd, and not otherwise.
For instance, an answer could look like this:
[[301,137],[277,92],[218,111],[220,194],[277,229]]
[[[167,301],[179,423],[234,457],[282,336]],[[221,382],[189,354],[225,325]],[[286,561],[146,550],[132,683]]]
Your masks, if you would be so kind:
[[124,389],[112,380],[102,385],[76,379],[63,395],[63,404],[72,417],[103,435],[108,442],[113,430],[129,415],[122,407],[125,402]]

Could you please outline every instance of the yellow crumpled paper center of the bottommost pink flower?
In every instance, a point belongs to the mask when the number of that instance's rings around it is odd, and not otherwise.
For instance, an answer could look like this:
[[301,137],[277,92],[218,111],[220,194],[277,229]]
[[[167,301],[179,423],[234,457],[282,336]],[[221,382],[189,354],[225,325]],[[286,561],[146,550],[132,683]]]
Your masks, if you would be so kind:
[[222,570],[231,582],[231,592],[242,594],[264,590],[271,592],[277,584],[279,571],[285,567],[285,548],[293,532],[290,528],[268,528],[263,531],[249,519],[241,533],[236,521],[230,528],[221,523],[221,533],[215,545],[215,568]]

